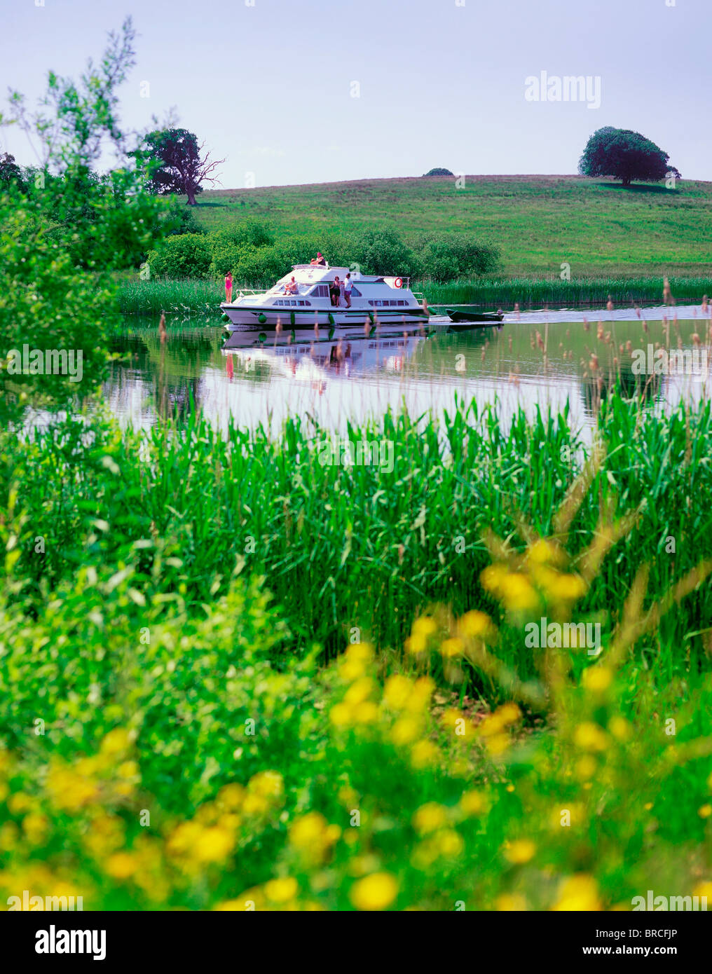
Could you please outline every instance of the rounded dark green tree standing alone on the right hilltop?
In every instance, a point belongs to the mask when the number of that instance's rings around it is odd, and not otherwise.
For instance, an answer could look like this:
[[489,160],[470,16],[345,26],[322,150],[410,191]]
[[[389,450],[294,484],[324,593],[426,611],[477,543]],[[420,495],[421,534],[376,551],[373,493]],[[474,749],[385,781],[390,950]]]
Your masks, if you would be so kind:
[[623,186],[629,186],[633,180],[656,182],[668,172],[680,179],[680,172],[668,164],[669,158],[639,131],[606,126],[594,131],[588,139],[579,171],[584,176],[613,176]]

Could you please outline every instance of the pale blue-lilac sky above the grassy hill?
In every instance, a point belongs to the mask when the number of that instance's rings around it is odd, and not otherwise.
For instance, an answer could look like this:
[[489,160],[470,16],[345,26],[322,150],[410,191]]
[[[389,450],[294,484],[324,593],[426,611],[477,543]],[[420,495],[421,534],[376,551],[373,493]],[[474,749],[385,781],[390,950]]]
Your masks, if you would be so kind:
[[[574,173],[607,125],[712,179],[712,0],[0,0],[0,111],[129,15],[122,122],[174,107],[225,159],[215,188]],[[3,151],[36,162],[12,127]]]

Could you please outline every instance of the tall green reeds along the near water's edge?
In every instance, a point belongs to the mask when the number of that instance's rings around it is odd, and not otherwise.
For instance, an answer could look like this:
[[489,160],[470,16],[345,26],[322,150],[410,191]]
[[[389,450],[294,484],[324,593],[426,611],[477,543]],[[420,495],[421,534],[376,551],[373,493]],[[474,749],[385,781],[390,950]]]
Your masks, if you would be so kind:
[[[322,466],[325,435],[299,419],[277,439],[232,421],[223,438],[195,418],[185,428],[157,425],[121,437],[99,427],[91,447],[73,442],[77,472],[68,476],[62,457],[69,441],[38,433],[29,452],[20,446],[1,471],[3,492],[17,480],[26,509],[21,565],[40,593],[88,558],[119,557],[124,539],[156,535],[180,560],[179,567],[164,567],[165,590],[187,586],[196,607],[224,589],[236,560],[264,576],[292,633],[290,654],[316,641],[324,656],[334,656],[355,626],[376,647],[399,648],[431,602],[455,614],[492,611],[478,581],[488,561],[482,532],[508,537],[523,515],[548,534],[577,472],[572,458],[581,454],[566,414],[530,424],[519,413],[504,431],[496,412],[478,413],[474,403],[442,426],[387,415],[350,428],[353,442],[393,442],[391,472]],[[651,589],[659,593],[700,557],[712,556],[709,403],[692,416],[680,407],[666,418],[612,396],[602,435],[610,458],[581,507],[577,548],[595,537],[604,501],[641,513],[615,559],[604,564],[586,611],[615,604],[642,562],[651,563]],[[146,449],[148,465],[136,459]],[[116,474],[103,466],[107,450]],[[111,528],[95,533],[88,551],[82,539],[97,519]],[[42,559],[31,552],[38,535],[53,538]],[[677,543],[672,558],[668,537]],[[704,654],[698,638],[687,640],[704,618],[712,618],[709,586],[670,614],[656,670],[673,672],[682,646],[695,658]],[[526,656],[522,649],[522,663]]]

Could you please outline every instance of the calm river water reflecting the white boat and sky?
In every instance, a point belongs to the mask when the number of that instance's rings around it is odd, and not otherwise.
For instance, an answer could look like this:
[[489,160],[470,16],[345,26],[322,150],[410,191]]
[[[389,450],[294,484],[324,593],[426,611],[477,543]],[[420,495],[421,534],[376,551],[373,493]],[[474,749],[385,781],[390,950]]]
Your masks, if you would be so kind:
[[[647,329],[647,330],[646,330]],[[573,423],[591,428],[598,403],[618,383],[634,393],[647,383],[654,408],[681,398],[697,401],[712,392],[701,374],[636,377],[632,353],[648,346],[695,350],[712,364],[709,309],[699,306],[634,311],[523,312],[506,315],[500,327],[456,334],[402,335],[372,332],[368,339],[319,341],[297,333],[296,342],[262,344],[255,333],[228,338],[220,324],[199,318],[171,325],[161,343],[155,320],[131,318],[114,336],[122,355],[104,387],[112,411],[134,426],[160,415],[201,408],[224,427],[232,414],[242,426],[277,429],[287,415],[309,414],[343,430],[403,404],[411,415],[452,409],[465,402],[500,404],[503,418],[518,406],[531,415],[539,405],[562,409]]]

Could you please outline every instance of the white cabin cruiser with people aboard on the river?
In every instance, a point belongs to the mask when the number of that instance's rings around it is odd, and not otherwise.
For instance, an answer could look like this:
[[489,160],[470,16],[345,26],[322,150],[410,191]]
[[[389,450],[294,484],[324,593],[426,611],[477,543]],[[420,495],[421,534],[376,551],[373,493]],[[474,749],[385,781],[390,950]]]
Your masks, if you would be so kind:
[[[354,281],[351,307],[343,292],[332,304],[330,288],[336,278],[344,281],[351,273]],[[294,278],[294,286],[291,279]],[[243,328],[274,330],[278,322],[286,331],[308,329],[315,324],[362,330],[366,320],[384,325],[422,324],[430,315],[410,289],[408,278],[389,278],[350,272],[348,267],[319,264],[294,264],[269,290],[241,290],[234,301],[220,305],[230,319],[229,331]]]

